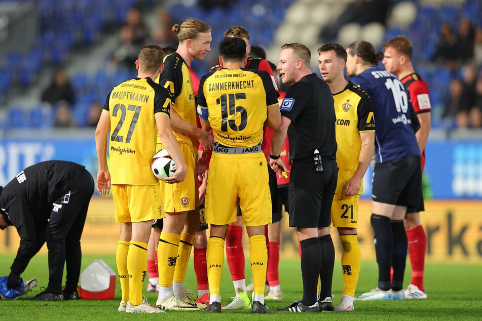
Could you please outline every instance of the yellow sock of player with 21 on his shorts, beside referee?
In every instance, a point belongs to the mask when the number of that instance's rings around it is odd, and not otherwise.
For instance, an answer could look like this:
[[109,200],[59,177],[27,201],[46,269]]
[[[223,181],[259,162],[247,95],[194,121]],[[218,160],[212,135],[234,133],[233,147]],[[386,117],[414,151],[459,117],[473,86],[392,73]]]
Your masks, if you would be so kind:
[[342,245],[342,271],[345,287],[342,294],[355,296],[360,275],[361,253],[356,235],[340,235]]

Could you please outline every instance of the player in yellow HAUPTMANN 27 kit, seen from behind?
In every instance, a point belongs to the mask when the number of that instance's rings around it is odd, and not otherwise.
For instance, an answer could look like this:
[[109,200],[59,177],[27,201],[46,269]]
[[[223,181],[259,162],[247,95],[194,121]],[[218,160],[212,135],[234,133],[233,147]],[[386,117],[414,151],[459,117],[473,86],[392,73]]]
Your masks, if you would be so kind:
[[142,295],[151,225],[163,217],[159,182],[151,170],[157,135],[177,164],[166,182],[181,182],[187,172],[169,123],[169,92],[153,81],[163,68],[163,56],[159,46],[141,49],[135,62],[137,77],[109,93],[95,130],[97,190],[105,195],[112,188],[115,218],[121,225],[116,261],[122,292],[119,311],[125,312],[161,312]]

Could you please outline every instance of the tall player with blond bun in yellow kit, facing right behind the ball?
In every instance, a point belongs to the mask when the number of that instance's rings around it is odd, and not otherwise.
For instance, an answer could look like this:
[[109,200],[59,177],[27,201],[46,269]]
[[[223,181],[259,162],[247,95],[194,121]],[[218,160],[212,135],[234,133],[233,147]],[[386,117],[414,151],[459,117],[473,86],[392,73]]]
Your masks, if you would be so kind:
[[[156,80],[167,88],[172,96],[171,126],[181,153],[188,165],[186,180],[178,184],[161,182],[161,194],[166,217],[159,239],[159,296],[156,305],[165,309],[198,310],[204,304],[196,304],[187,297],[184,277],[199,228],[199,197],[196,175],[198,146],[212,149],[213,138],[196,126],[196,103],[189,66],[195,60],[203,60],[211,50],[211,28],[194,18],[181,25],[175,24],[177,50],[166,56],[164,69]],[[162,144],[158,144],[161,149]]]

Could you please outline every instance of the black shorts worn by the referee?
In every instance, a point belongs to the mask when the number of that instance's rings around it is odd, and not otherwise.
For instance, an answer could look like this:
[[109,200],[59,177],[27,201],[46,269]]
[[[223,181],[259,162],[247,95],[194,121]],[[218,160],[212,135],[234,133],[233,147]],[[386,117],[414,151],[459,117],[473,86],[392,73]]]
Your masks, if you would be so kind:
[[322,172],[316,172],[313,157],[293,161],[288,190],[289,226],[327,227],[331,224],[338,165],[335,160],[322,160]]

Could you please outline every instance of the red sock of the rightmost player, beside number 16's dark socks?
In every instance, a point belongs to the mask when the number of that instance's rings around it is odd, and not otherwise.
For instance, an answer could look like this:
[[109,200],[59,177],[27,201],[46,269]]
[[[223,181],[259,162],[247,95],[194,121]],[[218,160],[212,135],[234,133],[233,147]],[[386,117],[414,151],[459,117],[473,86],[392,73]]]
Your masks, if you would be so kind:
[[409,240],[410,264],[412,265],[412,284],[421,291],[423,287],[423,274],[425,270],[425,250],[427,248],[427,236],[422,225],[406,231],[406,238]]

